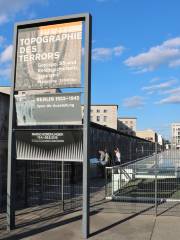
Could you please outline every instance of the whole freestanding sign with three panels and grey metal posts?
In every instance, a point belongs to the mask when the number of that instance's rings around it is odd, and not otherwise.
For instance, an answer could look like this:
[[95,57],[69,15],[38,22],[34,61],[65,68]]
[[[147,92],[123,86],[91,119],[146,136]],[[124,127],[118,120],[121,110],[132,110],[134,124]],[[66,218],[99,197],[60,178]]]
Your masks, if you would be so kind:
[[[84,71],[84,122],[83,122],[83,236],[89,235],[89,149],[91,104],[91,35],[90,14],[40,19],[15,25],[14,55],[12,68],[12,91],[9,112],[7,223],[15,228],[16,160],[36,160],[32,151],[22,151],[26,145],[24,136],[31,133],[32,144],[48,149],[51,141],[62,142],[58,132],[51,133],[47,126],[81,125],[80,93],[39,95],[38,90],[81,87],[82,23],[85,25],[85,71]],[[29,94],[29,91],[37,91]],[[19,91],[25,91],[22,96]],[[15,107],[16,106],[16,107]],[[46,116],[46,112],[50,115]],[[31,129],[29,128],[31,126]],[[34,127],[36,126],[36,127]],[[37,126],[41,126],[38,133]],[[28,128],[27,128],[28,127]],[[55,130],[55,129],[54,129]],[[34,133],[37,131],[36,133]],[[43,132],[45,131],[45,132]],[[64,132],[65,135],[67,135]],[[65,137],[65,135],[63,135]],[[18,140],[19,139],[19,140]],[[43,139],[42,144],[39,139]],[[64,138],[66,141],[66,138]],[[71,140],[77,137],[74,136]],[[17,140],[17,142],[16,142]],[[82,138],[81,138],[82,140]],[[19,142],[18,142],[19,141]],[[24,141],[24,142],[23,142]],[[66,141],[69,143],[68,141]],[[30,146],[31,147],[31,143]],[[72,142],[72,144],[74,144]],[[21,146],[20,146],[21,145]],[[18,146],[20,146],[18,148]],[[56,145],[55,145],[56,146]],[[65,148],[67,144],[61,144]],[[78,148],[79,145],[77,145]],[[70,148],[69,148],[70,151]],[[25,154],[26,153],[26,154]],[[57,153],[57,151],[56,151]],[[24,155],[25,154],[25,155]],[[73,151],[70,154],[72,158]],[[47,155],[48,156],[48,153]],[[65,154],[55,154],[57,161],[66,161]],[[69,156],[69,155],[68,155]],[[47,157],[46,157],[47,158]],[[40,160],[53,160],[39,155]],[[38,159],[37,159],[38,160]],[[72,159],[71,159],[72,160]]]

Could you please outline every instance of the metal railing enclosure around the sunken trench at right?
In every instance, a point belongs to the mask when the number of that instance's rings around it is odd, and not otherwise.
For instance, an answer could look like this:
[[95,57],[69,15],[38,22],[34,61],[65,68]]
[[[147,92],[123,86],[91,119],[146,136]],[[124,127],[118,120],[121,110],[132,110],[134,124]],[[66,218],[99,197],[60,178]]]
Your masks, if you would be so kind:
[[[166,150],[117,166],[106,167],[105,198],[111,206],[151,205],[155,215],[180,204],[180,150]],[[176,209],[176,213],[177,213]]]

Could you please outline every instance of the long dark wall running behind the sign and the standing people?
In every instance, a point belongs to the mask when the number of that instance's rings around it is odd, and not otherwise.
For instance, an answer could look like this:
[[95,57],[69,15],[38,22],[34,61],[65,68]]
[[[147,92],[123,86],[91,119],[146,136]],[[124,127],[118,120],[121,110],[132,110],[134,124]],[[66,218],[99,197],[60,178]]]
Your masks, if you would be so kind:
[[[122,162],[147,156],[150,154],[150,149],[151,152],[154,151],[154,143],[92,123],[91,159],[97,159],[98,150],[106,148],[111,155],[109,165],[113,165],[115,147],[121,151]],[[6,209],[7,148],[5,153],[4,160],[1,160],[1,178],[3,178],[1,211]],[[97,164],[92,162],[92,178],[95,179],[98,174]],[[96,186],[93,187],[92,192],[95,188]],[[16,209],[57,201],[64,209],[75,208],[80,206],[81,195],[82,163],[16,161]]]

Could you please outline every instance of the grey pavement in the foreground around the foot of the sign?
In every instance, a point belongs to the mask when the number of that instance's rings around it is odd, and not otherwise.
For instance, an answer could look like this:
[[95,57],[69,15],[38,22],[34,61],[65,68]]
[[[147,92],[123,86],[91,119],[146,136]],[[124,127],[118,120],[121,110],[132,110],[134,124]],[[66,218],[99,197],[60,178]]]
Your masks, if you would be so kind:
[[[81,212],[56,217],[36,227],[23,227],[4,234],[1,239],[78,240],[81,234]],[[180,217],[94,213],[91,216],[90,240],[179,240]]]

